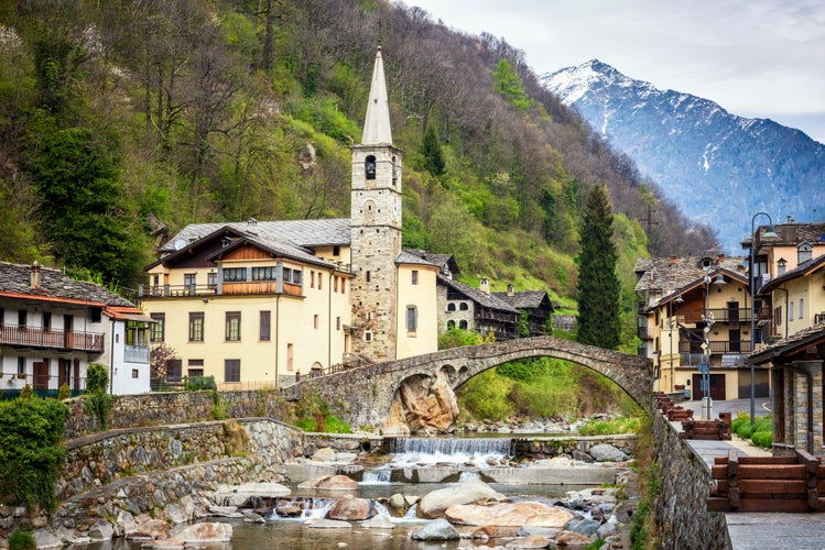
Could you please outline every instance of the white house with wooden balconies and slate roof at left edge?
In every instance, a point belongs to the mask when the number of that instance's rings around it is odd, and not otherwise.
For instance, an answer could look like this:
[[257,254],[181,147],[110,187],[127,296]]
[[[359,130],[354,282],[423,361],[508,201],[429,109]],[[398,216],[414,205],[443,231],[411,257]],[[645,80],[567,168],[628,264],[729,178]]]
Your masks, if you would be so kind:
[[0,391],[86,388],[89,363],[109,367],[116,395],[149,392],[151,319],[129,300],[61,271],[0,262]]

